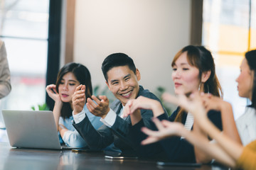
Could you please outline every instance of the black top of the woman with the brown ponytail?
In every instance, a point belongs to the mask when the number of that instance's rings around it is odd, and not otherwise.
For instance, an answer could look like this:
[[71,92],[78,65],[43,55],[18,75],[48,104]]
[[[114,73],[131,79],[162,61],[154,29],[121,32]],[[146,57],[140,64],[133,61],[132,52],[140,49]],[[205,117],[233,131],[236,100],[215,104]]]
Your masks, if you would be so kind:
[[[159,120],[169,120],[174,122],[179,107],[171,114],[168,118],[166,114],[159,115]],[[181,118],[181,123],[183,125],[186,123],[187,113],[184,113]],[[212,123],[222,130],[222,121],[220,111],[209,111],[208,118],[212,121]],[[151,122],[154,124],[153,122]],[[139,123],[132,127],[133,140],[137,142],[139,145],[142,140],[146,139],[146,135],[141,131],[141,128],[144,126],[143,121],[141,120]],[[153,127],[153,125],[151,126]],[[193,127],[191,128],[193,129]],[[151,130],[156,130],[156,126],[151,128]],[[135,136],[136,135],[136,136]],[[196,162],[196,157],[194,153],[193,145],[191,145],[185,139],[181,137],[169,137],[166,140],[161,140],[160,142],[156,142],[151,145],[145,145],[138,148],[139,155],[141,157],[146,158],[154,158],[154,159],[167,159],[169,162]]]

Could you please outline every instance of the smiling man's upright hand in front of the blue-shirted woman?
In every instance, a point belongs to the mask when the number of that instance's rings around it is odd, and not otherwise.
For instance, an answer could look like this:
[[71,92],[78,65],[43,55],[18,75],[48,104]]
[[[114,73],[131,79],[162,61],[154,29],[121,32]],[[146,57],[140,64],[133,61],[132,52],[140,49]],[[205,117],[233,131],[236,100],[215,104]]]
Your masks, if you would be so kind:
[[80,84],[72,96],[74,115],[80,113],[85,106],[85,85]]

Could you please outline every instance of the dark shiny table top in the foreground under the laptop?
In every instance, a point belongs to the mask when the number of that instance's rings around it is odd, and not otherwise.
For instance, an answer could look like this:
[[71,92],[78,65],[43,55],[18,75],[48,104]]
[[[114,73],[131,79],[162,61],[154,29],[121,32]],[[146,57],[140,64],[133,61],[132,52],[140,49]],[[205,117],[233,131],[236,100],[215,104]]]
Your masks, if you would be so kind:
[[157,166],[156,161],[142,159],[105,159],[102,152],[72,152],[71,150],[16,149],[0,143],[0,169],[223,169],[220,166],[201,167]]

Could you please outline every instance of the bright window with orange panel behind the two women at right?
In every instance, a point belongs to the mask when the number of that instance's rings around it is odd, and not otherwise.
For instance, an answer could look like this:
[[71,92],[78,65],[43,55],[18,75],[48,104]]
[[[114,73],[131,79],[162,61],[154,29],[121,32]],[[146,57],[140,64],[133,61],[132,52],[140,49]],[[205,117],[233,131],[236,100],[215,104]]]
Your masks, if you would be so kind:
[[224,100],[232,103],[235,119],[247,105],[238,96],[235,79],[245,52],[256,47],[255,7],[255,0],[203,1],[202,45],[213,53]]

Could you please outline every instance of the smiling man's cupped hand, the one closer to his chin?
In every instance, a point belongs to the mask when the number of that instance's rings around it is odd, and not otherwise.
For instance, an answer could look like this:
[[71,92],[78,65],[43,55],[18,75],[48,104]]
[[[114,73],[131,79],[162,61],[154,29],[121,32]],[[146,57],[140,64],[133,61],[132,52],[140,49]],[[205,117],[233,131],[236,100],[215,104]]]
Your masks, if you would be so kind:
[[110,107],[109,107],[110,101],[108,100],[107,96],[99,96],[99,98],[92,95],[92,99],[96,103],[92,101],[91,98],[87,98],[86,106],[90,111],[90,113],[92,113],[93,115],[99,116],[101,118],[105,118],[107,113],[109,113],[110,111]]

